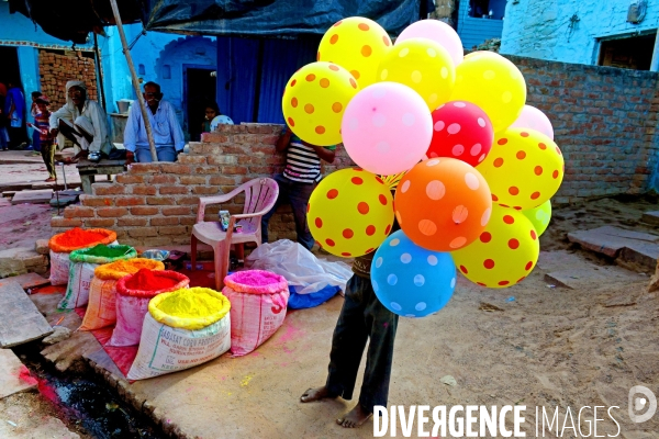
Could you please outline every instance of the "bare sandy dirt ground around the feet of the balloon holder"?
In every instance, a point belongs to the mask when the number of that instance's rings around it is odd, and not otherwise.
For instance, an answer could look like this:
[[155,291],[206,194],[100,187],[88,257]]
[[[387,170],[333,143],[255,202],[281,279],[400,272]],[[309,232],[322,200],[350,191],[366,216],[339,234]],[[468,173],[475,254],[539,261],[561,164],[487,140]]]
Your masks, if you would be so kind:
[[[573,229],[616,225],[657,232],[639,223],[641,213],[656,206],[646,196],[557,209],[540,238],[541,250],[567,257],[574,248],[565,235]],[[2,223],[0,237],[21,227]],[[607,262],[582,251],[573,256]],[[627,415],[632,386],[645,385],[659,395],[659,296],[646,293],[649,277],[612,278],[571,290],[550,288],[545,273],[536,268],[521,285],[503,290],[459,279],[453,300],[437,315],[401,318],[389,404],[525,405],[527,437],[536,437],[536,406],[551,410],[550,416],[561,407],[561,426],[568,406],[576,421],[582,406],[617,406],[612,408],[622,430],[617,437],[659,438],[659,414],[644,424],[633,424]],[[290,313],[283,327],[250,356],[223,356],[189,371],[135,382],[130,395],[144,401],[164,429],[180,437],[372,437],[370,423],[350,431],[334,424],[355,401],[298,402],[305,389],[324,383],[342,303],[335,297]],[[362,361],[361,371],[364,367]],[[440,382],[446,375],[456,385]],[[355,398],[360,384],[361,372]],[[616,434],[606,412],[600,409],[597,418],[605,418],[597,435]],[[583,412],[581,423],[583,436],[592,437],[584,419],[593,419],[592,408]],[[416,423],[412,431],[416,437]],[[545,437],[556,437],[556,430]],[[577,436],[567,429],[562,437]]]

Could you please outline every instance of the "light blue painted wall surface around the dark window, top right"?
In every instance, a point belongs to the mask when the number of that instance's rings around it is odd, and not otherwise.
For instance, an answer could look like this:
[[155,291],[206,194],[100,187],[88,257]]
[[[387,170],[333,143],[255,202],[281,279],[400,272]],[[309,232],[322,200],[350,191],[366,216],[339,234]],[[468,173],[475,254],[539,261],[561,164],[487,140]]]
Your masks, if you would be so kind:
[[[501,53],[574,64],[596,64],[599,38],[655,32],[659,0],[645,20],[627,23],[629,0],[520,0],[506,5]],[[570,25],[572,15],[579,22]]]

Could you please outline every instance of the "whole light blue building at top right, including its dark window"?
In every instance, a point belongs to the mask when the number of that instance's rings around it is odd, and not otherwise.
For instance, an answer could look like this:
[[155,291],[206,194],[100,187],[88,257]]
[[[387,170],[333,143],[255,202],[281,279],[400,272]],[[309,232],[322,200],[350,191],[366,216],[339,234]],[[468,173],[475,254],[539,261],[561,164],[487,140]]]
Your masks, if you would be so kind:
[[658,70],[659,0],[513,0],[501,53]]

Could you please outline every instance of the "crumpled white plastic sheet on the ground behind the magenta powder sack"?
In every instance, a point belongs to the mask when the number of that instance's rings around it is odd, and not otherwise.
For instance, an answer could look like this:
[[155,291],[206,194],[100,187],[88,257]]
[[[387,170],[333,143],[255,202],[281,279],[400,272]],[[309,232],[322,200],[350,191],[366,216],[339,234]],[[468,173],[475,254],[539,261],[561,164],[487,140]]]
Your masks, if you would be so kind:
[[326,286],[338,286],[343,294],[348,279],[353,277],[348,264],[319,259],[301,244],[289,239],[259,246],[247,261],[254,262],[250,269],[283,275],[298,294],[320,292]]

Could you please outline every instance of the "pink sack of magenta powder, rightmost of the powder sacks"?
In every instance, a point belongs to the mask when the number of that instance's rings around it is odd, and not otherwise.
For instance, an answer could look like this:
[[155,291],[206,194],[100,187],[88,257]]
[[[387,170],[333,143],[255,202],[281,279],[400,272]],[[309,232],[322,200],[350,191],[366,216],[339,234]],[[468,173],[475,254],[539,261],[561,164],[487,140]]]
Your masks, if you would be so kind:
[[283,324],[289,300],[282,275],[238,271],[224,278],[222,293],[231,302],[231,351],[241,357],[258,348]]

